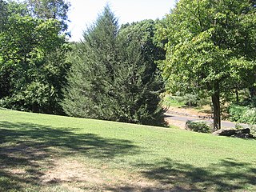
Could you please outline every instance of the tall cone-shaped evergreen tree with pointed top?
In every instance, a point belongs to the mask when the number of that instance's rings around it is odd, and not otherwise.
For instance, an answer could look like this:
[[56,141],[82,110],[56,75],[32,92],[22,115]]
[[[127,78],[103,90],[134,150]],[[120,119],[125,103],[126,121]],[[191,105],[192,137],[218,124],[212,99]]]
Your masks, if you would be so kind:
[[[119,34],[118,21],[106,6],[71,53],[62,102],[66,114],[120,122],[161,125],[159,89],[152,89],[140,44]],[[152,102],[153,100],[157,102]]]

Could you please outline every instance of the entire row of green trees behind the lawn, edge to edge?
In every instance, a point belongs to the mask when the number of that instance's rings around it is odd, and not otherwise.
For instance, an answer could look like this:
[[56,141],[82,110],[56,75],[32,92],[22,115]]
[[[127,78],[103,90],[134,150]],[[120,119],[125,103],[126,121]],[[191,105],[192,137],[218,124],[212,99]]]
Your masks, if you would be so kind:
[[[119,26],[106,6],[68,42],[64,0],[0,0],[0,106],[164,125],[161,94],[256,95],[254,0],[180,0],[162,20]],[[238,100],[238,99],[237,99]]]

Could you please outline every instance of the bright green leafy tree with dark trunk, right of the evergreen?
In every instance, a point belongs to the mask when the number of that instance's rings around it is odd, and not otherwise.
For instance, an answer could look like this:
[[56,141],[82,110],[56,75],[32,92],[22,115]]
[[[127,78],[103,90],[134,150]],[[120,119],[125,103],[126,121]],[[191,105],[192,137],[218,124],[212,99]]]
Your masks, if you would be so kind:
[[254,8],[249,0],[181,0],[158,26],[166,49],[160,67],[170,90],[207,91],[214,130],[221,128],[222,94],[255,69]]

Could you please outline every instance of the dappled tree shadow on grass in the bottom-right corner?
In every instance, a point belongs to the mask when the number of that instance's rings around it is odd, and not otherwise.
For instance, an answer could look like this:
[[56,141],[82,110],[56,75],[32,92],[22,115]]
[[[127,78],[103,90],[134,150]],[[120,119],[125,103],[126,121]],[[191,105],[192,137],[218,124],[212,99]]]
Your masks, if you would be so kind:
[[[146,178],[161,183],[159,191],[234,191],[256,190],[256,162],[238,162],[226,158],[207,167],[174,162],[171,159],[137,165],[145,167]],[[145,190],[150,191],[150,190]]]

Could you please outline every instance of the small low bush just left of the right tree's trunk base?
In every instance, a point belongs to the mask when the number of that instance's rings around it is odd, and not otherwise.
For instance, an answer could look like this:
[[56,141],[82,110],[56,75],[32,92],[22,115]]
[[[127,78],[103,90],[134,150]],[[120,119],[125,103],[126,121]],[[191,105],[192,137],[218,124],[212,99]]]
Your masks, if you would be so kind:
[[200,133],[210,133],[210,126],[203,121],[187,121],[186,122],[186,130],[193,130]]

